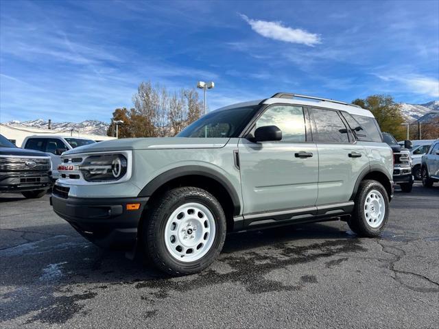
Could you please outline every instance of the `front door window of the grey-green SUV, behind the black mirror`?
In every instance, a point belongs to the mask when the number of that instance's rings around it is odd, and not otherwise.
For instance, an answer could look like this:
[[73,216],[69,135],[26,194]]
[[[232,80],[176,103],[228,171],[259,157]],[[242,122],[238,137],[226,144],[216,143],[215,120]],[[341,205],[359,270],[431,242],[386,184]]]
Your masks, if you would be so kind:
[[282,132],[281,142],[306,140],[305,117],[300,106],[276,105],[268,108],[258,119],[255,129],[264,125],[276,125]]

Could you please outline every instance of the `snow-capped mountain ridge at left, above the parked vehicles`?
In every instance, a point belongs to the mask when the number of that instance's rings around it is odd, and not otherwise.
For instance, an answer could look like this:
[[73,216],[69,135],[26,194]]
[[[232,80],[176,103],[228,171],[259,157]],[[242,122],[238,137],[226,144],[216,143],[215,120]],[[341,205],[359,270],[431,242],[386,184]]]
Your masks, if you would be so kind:
[[[31,121],[9,121],[6,125],[14,125],[21,127],[33,127],[48,129],[49,121],[43,119],[36,119]],[[103,135],[106,136],[108,123],[97,121],[97,120],[86,120],[80,123],[75,122],[52,122],[51,129],[59,132],[70,132],[74,130],[75,132],[80,132],[82,134],[93,134],[93,135]]]

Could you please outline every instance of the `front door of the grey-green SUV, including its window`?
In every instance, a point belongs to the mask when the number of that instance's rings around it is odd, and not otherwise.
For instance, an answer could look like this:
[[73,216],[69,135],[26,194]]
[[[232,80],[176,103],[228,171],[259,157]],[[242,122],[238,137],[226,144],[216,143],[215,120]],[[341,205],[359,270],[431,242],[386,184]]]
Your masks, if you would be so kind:
[[[314,206],[317,199],[318,152],[307,141],[304,109],[273,105],[252,130],[276,125],[281,141],[239,140],[244,217],[246,214]],[[250,134],[251,135],[251,134]]]

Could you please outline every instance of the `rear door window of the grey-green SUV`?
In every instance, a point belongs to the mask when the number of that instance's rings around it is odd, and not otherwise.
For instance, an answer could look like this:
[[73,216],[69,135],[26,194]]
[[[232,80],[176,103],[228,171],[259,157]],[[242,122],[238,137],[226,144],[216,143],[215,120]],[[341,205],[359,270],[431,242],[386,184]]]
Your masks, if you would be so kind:
[[333,110],[311,108],[313,141],[323,143],[349,143],[348,130],[342,118]]

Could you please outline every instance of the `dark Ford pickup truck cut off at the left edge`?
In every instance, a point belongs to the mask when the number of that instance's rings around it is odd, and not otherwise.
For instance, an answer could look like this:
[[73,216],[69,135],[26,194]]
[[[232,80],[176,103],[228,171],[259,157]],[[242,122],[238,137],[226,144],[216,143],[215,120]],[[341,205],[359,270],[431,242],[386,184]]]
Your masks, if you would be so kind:
[[51,184],[48,154],[20,149],[0,135],[0,193],[21,193],[27,198],[43,197]]

